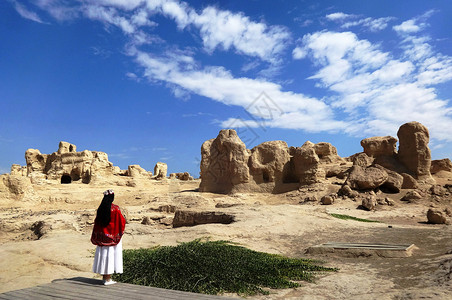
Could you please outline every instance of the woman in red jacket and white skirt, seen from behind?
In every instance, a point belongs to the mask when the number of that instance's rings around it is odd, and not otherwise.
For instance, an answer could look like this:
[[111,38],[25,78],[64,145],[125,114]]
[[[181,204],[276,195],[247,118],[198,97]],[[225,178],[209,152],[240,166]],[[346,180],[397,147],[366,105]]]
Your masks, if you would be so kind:
[[93,272],[103,275],[104,285],[116,283],[111,274],[122,273],[122,241],[126,220],[119,206],[112,204],[113,190],[106,190],[97,209],[91,242],[97,245]]

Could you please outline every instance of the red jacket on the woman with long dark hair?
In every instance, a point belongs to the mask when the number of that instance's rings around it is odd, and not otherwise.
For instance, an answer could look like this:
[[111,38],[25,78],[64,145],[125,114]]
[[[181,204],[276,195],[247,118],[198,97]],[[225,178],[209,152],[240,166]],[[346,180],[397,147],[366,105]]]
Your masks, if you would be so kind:
[[126,227],[126,219],[121,214],[119,206],[111,205],[111,220],[106,227],[100,226],[94,220],[91,243],[97,246],[115,246],[121,241]]

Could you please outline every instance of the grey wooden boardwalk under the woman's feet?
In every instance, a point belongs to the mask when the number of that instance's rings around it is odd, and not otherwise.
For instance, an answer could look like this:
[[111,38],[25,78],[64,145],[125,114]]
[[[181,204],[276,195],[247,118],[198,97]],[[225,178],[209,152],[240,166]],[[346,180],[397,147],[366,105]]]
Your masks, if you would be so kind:
[[155,287],[140,286],[128,283],[102,285],[101,280],[75,277],[54,280],[52,283],[31,288],[10,291],[0,294],[0,299],[187,299],[214,300],[227,299],[221,296],[211,296],[197,293],[166,290]]

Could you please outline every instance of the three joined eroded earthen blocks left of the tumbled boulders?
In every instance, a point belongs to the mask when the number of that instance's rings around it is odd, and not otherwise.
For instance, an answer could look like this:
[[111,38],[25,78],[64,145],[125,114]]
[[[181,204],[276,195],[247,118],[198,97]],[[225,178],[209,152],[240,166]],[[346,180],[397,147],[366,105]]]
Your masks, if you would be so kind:
[[346,163],[329,143],[289,148],[283,141],[270,141],[248,150],[232,129],[204,142],[201,157],[200,191],[216,193],[294,190],[324,180],[328,166]]

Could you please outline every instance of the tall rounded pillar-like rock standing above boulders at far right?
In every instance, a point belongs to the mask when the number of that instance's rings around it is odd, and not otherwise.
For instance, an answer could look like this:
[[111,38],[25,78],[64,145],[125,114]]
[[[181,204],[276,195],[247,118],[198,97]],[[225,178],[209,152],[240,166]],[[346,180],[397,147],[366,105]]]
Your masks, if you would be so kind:
[[430,174],[431,154],[428,147],[428,129],[418,122],[410,122],[400,126],[397,132],[399,137],[400,161],[416,179],[432,182]]

